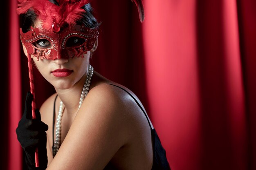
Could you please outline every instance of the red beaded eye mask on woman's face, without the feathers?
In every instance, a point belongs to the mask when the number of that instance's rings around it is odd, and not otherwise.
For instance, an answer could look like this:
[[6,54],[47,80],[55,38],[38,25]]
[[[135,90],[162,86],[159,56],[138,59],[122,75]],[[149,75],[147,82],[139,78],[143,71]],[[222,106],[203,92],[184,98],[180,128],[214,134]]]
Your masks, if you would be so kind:
[[[54,28],[53,24],[53,28]],[[84,25],[72,25],[54,33],[44,29],[42,25],[31,27],[27,33],[20,29],[21,41],[27,53],[39,60],[82,57],[94,46],[99,36],[98,28],[90,29]]]

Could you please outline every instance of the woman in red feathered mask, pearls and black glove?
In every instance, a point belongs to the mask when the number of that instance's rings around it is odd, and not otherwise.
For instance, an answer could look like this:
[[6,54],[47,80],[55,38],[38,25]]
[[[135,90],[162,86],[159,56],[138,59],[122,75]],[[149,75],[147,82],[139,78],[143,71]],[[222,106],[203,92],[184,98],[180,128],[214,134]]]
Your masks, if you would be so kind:
[[[18,14],[26,13],[20,30],[24,53],[56,90],[36,111],[36,119],[31,119],[33,95],[27,95],[16,130],[27,167],[169,170],[165,150],[139,99],[90,66],[99,36],[90,4],[86,0],[19,2]],[[142,2],[136,4],[142,21]]]

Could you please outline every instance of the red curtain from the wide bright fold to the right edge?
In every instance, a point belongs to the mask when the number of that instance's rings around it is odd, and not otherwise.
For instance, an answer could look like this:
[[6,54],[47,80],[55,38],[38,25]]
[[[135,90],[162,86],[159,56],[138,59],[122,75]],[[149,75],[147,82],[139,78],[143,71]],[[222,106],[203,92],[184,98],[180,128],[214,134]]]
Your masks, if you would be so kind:
[[145,0],[150,114],[177,170],[256,169],[256,2]]

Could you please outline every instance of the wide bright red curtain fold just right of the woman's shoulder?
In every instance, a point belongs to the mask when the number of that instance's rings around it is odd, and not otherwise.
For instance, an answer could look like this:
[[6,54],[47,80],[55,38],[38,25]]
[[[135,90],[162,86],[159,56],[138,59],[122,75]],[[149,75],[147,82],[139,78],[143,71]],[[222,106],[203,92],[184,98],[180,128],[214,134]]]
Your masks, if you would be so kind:
[[143,26],[150,118],[171,168],[200,166],[200,96],[196,4],[144,0]]

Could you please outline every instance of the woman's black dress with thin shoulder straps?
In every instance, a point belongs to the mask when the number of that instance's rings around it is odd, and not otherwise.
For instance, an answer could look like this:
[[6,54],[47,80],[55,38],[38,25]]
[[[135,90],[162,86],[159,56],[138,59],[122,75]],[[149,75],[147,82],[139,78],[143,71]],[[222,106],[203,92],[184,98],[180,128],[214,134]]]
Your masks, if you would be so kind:
[[[166,159],[166,151],[164,150],[161,141],[157,135],[157,132],[155,129],[153,129],[150,125],[149,122],[149,118],[146,115],[144,109],[141,107],[141,105],[139,104],[139,102],[135,99],[135,97],[133,97],[128,91],[126,91],[124,88],[114,85],[114,84],[110,84],[112,86],[116,86],[118,88],[121,88],[122,90],[124,90],[126,93],[128,93],[137,103],[137,105],[139,106],[139,108],[141,108],[142,112],[144,113],[144,115],[146,116],[147,120],[148,120],[148,124],[150,126],[150,131],[151,131],[151,137],[152,137],[152,143],[153,143],[153,166],[151,170],[171,170],[169,163]],[[58,96],[58,95],[57,95]],[[57,99],[57,96],[54,100],[54,111],[53,111],[53,135],[52,135],[52,140],[54,142],[54,122],[55,122],[55,102]],[[117,170],[117,168],[115,168],[114,166],[112,166],[111,163],[108,163],[108,165],[104,168],[104,170]]]

